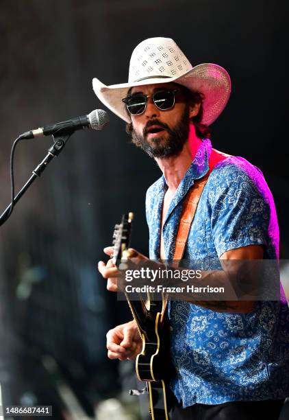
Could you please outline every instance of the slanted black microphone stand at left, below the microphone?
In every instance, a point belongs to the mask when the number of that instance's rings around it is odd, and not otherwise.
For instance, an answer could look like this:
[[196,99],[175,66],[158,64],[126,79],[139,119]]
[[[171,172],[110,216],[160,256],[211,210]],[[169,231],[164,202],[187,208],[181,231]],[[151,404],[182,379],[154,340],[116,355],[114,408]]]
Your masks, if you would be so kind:
[[[48,153],[45,156],[45,158],[42,160],[42,162],[40,162],[39,165],[36,166],[36,168],[32,171],[32,176],[30,176],[29,180],[27,180],[27,183],[23,185],[21,190],[14,197],[14,200],[13,200],[14,205],[16,204],[16,202],[18,202],[18,200],[20,200],[20,198],[23,196],[25,191],[27,191],[30,185],[32,185],[34,180],[42,174],[42,172],[46,169],[47,165],[52,161],[52,159],[55,158],[55,156],[58,156],[58,154],[60,154],[60,152],[64,148],[64,145],[66,145],[68,139],[71,137],[71,135],[73,135],[73,132],[74,130],[72,130],[71,132],[66,132],[66,134],[55,133],[54,135],[52,135],[53,141],[54,141],[53,145],[51,145],[51,147],[48,149]],[[6,216],[8,215],[11,206],[12,206],[12,203],[10,202],[10,205],[1,214],[0,226],[4,224],[6,220],[8,220]]]

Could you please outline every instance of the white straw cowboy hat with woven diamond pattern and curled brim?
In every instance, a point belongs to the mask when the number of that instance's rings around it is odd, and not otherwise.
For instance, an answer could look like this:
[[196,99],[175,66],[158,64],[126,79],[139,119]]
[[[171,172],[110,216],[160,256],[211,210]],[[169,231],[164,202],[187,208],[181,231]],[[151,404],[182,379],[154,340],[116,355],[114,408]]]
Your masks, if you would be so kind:
[[132,86],[175,82],[190,91],[203,93],[202,123],[209,126],[225,108],[231,92],[231,80],[223,67],[205,63],[192,67],[188,58],[171,38],[149,38],[134,49],[129,63],[127,83],[105,86],[92,80],[95,94],[118,117],[131,122],[122,102]]

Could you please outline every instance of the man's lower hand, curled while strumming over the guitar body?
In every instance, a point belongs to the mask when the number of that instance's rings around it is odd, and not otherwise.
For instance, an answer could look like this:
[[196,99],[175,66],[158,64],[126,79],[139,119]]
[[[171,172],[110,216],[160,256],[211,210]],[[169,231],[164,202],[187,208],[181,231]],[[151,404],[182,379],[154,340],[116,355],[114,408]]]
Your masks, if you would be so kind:
[[142,339],[134,320],[110,329],[106,338],[110,359],[133,360],[142,349]]

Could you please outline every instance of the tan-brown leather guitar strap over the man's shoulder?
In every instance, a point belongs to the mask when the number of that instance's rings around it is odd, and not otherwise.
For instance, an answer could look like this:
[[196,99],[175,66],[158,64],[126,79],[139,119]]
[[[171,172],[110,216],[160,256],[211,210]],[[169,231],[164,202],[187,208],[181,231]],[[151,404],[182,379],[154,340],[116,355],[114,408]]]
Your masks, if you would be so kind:
[[185,246],[188,240],[188,234],[190,232],[190,226],[194,219],[194,213],[196,213],[197,205],[201,198],[201,194],[208,181],[210,173],[214,169],[214,166],[221,161],[224,161],[229,154],[219,152],[218,150],[212,149],[209,162],[209,171],[203,178],[195,180],[194,185],[190,188],[185,201],[184,207],[181,211],[181,220],[179,222],[179,229],[177,231],[177,238],[175,240],[175,253],[173,259],[180,261],[184,255]]

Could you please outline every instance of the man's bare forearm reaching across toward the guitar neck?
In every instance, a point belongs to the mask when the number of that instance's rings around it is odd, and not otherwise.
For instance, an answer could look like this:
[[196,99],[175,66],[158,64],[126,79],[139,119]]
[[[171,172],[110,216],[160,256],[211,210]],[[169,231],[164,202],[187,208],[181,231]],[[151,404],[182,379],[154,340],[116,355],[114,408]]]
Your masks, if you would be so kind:
[[[254,306],[253,299],[244,300],[244,296],[251,292],[253,281],[247,271],[240,270],[240,265],[236,270],[236,262],[232,262],[235,270],[231,269],[231,264],[230,270],[227,271],[208,271],[147,261],[145,266],[142,265],[147,277],[134,279],[134,283],[129,283],[128,290],[134,289],[138,299],[137,292],[140,288],[141,292],[144,292],[143,286],[146,285],[146,292],[155,293],[151,297],[153,300],[161,299],[161,293],[164,292],[172,299],[188,301],[217,312],[251,312]],[[139,266],[135,267],[135,270],[141,271]],[[130,274],[132,271],[130,270]],[[192,273],[196,273],[197,277],[189,276]]]

